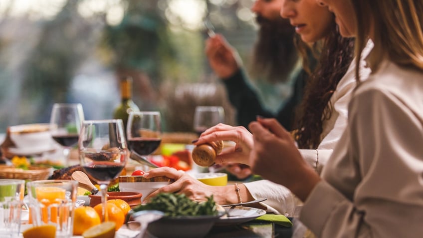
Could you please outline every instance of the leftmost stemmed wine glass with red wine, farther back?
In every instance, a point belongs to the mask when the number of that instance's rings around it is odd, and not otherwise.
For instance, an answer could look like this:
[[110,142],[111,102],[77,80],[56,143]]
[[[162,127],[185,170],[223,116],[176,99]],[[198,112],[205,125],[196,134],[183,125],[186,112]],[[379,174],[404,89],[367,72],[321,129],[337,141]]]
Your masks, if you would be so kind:
[[51,110],[50,133],[63,146],[64,164],[69,164],[70,148],[78,142],[84,111],[79,103],[55,103]]

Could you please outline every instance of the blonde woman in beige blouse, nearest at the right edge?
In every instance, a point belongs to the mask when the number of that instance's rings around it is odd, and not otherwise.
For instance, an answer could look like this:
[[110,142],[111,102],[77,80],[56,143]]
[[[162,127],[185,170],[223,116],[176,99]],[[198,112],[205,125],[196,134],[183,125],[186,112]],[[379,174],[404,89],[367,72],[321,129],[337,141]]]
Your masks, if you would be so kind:
[[249,125],[254,137],[250,164],[305,202],[300,220],[317,237],[420,238],[423,1],[320,3],[335,13],[341,34],[356,37],[357,58],[367,39],[373,40],[367,57],[372,74],[355,90],[347,129],[321,177],[274,119]]

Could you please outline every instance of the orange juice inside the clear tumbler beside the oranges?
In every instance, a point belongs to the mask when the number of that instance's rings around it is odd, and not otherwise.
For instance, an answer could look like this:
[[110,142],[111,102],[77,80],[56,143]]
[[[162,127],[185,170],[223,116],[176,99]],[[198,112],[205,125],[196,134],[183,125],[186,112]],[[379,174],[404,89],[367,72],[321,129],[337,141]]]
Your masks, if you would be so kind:
[[63,213],[65,212],[58,211],[57,206],[66,199],[66,190],[56,187],[36,187],[35,193],[37,200],[44,205],[41,208],[42,221],[48,223],[48,210],[50,210],[50,222],[57,223],[57,217],[63,217]]

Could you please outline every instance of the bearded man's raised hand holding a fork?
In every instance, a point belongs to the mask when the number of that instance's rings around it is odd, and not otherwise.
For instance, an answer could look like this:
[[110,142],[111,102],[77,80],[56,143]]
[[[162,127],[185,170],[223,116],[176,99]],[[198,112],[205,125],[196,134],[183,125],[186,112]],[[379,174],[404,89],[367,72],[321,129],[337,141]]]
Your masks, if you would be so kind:
[[242,65],[236,50],[220,34],[206,41],[206,55],[213,71],[223,79],[232,76]]

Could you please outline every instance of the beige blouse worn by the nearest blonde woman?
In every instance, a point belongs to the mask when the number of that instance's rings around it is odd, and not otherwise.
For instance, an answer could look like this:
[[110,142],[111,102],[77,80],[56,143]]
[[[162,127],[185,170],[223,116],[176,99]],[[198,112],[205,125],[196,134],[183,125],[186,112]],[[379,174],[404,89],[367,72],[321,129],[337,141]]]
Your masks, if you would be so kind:
[[421,238],[423,71],[383,61],[348,120],[300,220],[320,238]]

